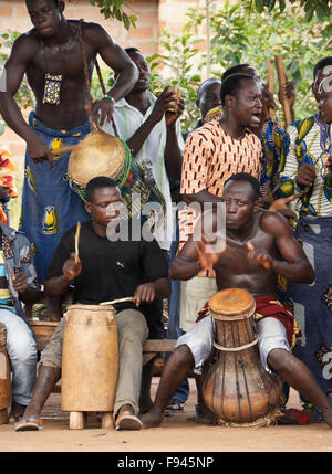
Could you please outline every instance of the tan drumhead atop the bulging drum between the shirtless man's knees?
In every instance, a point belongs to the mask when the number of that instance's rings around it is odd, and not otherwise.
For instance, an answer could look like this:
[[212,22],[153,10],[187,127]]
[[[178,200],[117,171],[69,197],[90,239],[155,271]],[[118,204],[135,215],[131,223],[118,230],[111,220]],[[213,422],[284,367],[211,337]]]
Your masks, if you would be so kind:
[[256,303],[249,292],[241,288],[222,289],[209,299],[211,316],[242,316],[255,312]]

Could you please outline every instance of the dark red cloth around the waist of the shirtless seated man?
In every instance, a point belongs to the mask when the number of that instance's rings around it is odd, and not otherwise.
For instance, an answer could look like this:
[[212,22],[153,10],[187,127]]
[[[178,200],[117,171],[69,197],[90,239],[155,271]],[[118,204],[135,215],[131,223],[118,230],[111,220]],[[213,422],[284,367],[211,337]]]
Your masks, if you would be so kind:
[[[297,337],[300,335],[301,330],[298,326],[293,314],[288,310],[278,299],[271,296],[258,296],[255,298],[256,302],[256,312],[255,319],[259,320],[264,317],[274,317],[280,320],[286,329],[287,339],[290,348],[292,349],[295,345]],[[196,323],[209,315],[209,303],[207,302],[204,305],[204,308],[198,312],[198,317]]]

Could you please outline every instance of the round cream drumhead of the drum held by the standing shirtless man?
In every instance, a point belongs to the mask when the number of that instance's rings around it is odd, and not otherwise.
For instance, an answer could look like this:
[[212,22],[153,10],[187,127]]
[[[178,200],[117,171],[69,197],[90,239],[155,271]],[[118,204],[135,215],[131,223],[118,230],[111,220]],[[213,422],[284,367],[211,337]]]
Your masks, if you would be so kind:
[[122,141],[105,131],[97,130],[86,135],[70,155],[69,178],[85,188],[97,176],[115,179],[126,160]]

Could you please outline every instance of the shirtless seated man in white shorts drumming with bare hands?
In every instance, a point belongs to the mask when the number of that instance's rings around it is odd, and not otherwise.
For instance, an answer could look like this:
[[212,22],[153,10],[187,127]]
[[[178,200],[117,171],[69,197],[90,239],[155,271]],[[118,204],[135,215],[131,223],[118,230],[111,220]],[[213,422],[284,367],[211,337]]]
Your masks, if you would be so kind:
[[[313,270],[293,239],[291,228],[277,212],[259,209],[258,196],[259,182],[256,178],[247,173],[231,176],[222,192],[226,203],[224,251],[207,253],[208,242],[204,236],[201,241],[190,238],[173,261],[170,276],[190,278],[201,268],[214,265],[219,291],[231,287],[247,289],[256,298],[257,307],[263,302],[266,305],[276,303],[278,274],[290,281],[311,283],[314,280]],[[305,393],[332,426],[331,403],[308,368],[290,351],[293,317],[284,310],[288,316],[281,318],[279,315],[283,308],[276,305],[276,316],[266,316],[257,322],[262,365],[266,370],[277,372],[295,390]],[[212,350],[212,319],[206,316],[178,339],[162,376],[154,408],[142,417],[145,428],[160,424],[169,398],[190,368],[194,367],[197,373],[201,372]],[[200,387],[200,412],[212,421],[212,413],[204,407]]]

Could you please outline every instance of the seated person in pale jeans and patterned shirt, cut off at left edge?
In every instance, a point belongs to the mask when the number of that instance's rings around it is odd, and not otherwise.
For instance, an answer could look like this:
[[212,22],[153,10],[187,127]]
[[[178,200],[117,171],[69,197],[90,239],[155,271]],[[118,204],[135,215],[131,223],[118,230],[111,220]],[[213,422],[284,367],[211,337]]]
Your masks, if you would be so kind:
[[[0,196],[8,189],[0,186]],[[28,240],[0,221],[0,323],[7,329],[7,351],[12,369],[14,423],[29,404],[35,382],[37,346],[21,303],[33,304],[40,287]]]

